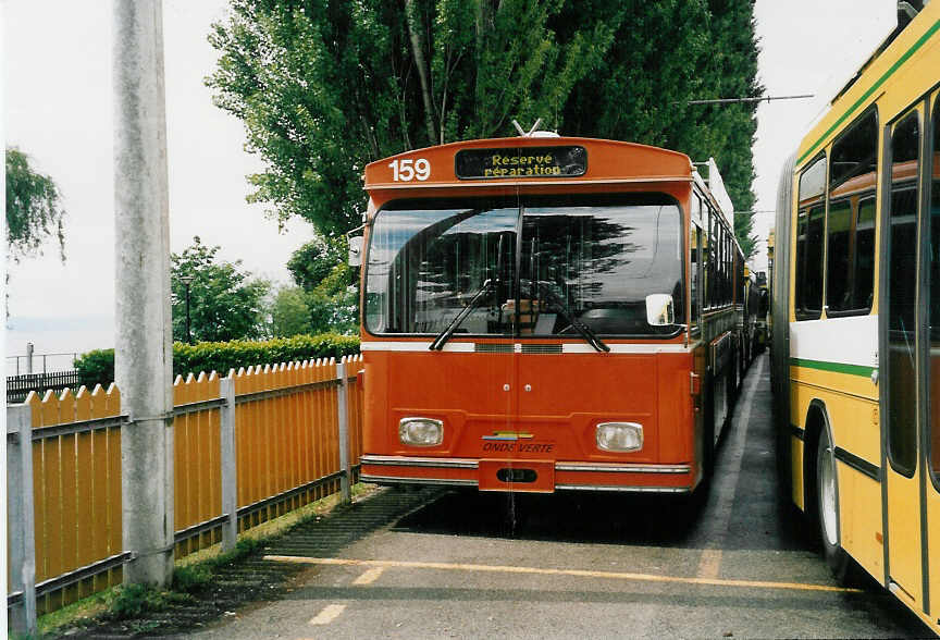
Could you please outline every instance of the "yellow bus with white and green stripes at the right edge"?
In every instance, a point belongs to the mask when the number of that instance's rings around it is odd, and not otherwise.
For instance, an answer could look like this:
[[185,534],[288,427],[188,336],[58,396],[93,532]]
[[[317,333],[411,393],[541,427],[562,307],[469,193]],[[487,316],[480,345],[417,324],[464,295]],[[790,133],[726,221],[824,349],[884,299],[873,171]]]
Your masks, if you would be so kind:
[[940,632],[940,2],[904,22],[783,170],[771,383],[781,477],[836,576]]

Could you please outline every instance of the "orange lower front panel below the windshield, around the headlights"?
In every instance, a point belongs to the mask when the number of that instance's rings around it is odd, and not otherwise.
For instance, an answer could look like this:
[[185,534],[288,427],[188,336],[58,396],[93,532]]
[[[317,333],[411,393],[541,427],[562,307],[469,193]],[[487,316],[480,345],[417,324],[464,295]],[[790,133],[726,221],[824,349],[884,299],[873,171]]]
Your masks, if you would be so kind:
[[[647,350],[650,345],[636,345]],[[630,348],[630,345],[617,345]],[[395,469],[388,460],[363,459],[367,477],[411,477],[431,481],[461,479],[480,489],[506,489],[487,473],[487,460],[515,460],[535,468],[547,463],[555,484],[617,487],[664,485],[691,490],[696,481],[693,466],[698,434],[691,394],[691,353],[678,354],[482,354],[482,353],[366,353],[367,403],[370,428],[366,452],[397,456]],[[378,378],[373,371],[386,371]],[[392,374],[391,372],[394,372]],[[577,374],[573,374],[576,373]],[[683,384],[684,382],[684,384]],[[370,394],[371,385],[383,387],[383,397]],[[507,389],[508,387],[508,389]],[[426,417],[444,422],[440,445],[407,446],[398,440],[398,423],[407,417]],[[595,429],[603,422],[635,422],[643,426],[643,447],[633,453],[597,448]],[[409,465],[421,458],[423,466]],[[436,466],[429,460],[437,460]],[[455,469],[452,460],[478,461],[473,469]],[[370,463],[370,460],[372,460]],[[590,465],[681,465],[682,473],[663,477],[652,472],[593,470]],[[566,466],[567,465],[567,466]],[[499,467],[502,468],[502,467]],[[498,470],[498,469],[497,469]],[[540,472],[543,479],[545,472]],[[515,490],[531,490],[514,485]]]

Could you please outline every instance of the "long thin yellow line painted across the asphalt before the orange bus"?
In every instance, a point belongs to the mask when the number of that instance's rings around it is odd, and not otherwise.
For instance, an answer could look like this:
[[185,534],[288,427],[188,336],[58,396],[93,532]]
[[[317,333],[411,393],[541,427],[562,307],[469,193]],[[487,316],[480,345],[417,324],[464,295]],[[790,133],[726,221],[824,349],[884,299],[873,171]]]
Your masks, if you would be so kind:
[[486,571],[491,574],[534,574],[539,576],[574,576],[579,578],[610,578],[641,582],[671,582],[680,584],[712,584],[714,587],[745,587],[749,589],[791,589],[796,591],[827,591],[831,593],[861,593],[861,589],[845,589],[829,584],[805,584],[801,582],[772,582],[765,580],[727,580],[720,578],[683,578],[679,576],[655,576],[619,571],[586,571],[583,569],[543,569],[539,567],[512,567],[502,565],[469,565],[448,563],[421,563],[405,561],[348,559],[336,557],[301,557],[294,555],[265,555],[264,559],[306,565],[339,565],[352,567],[395,567],[403,569],[443,569],[452,571]]

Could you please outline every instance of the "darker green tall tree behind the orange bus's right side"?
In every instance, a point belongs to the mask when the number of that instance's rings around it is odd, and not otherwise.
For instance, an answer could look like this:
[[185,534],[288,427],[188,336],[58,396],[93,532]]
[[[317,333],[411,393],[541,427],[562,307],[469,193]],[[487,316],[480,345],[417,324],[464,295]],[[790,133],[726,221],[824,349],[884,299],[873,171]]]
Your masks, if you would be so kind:
[[599,69],[571,93],[566,133],[665,147],[695,161],[714,157],[742,212],[734,216],[734,231],[750,256],[757,241],[750,212],[757,106],[688,102],[763,94],[753,1],[568,2],[555,28],[564,39],[597,22],[620,26]]

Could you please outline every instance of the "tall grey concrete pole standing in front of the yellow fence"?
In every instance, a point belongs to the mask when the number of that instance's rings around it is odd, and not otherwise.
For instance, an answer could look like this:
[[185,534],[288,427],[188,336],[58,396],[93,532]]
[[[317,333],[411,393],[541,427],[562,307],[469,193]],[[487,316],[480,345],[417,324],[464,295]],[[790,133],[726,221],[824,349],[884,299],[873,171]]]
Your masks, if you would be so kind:
[[173,574],[170,216],[161,0],[114,0],[114,378],[121,433],[124,569],[132,583]]

